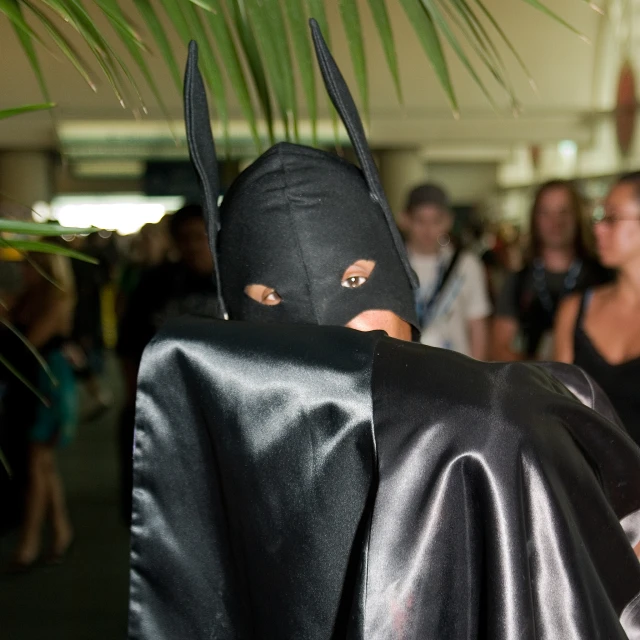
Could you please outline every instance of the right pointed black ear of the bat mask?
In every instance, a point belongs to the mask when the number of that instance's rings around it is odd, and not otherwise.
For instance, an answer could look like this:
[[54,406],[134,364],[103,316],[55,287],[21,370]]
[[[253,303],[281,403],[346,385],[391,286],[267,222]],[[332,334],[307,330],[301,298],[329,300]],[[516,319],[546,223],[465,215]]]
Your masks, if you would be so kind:
[[322,32],[320,31],[318,23],[312,18],[309,21],[309,25],[311,26],[311,36],[316,50],[316,58],[318,59],[318,65],[320,66],[320,71],[322,73],[327,93],[329,94],[331,102],[333,102],[333,106],[338,111],[340,119],[349,134],[349,139],[351,140],[351,144],[353,145],[358,161],[360,162],[360,167],[364,173],[371,196],[382,208],[394,245],[398,255],[400,256],[402,264],[404,265],[409,282],[414,289],[417,289],[418,279],[409,264],[407,250],[404,246],[404,242],[402,241],[402,236],[398,231],[393,213],[391,212],[391,207],[387,202],[387,197],[384,194],[380,175],[378,174],[376,163],[371,155],[371,149],[369,148],[369,143],[367,142],[367,137],[364,133],[364,127],[362,126],[362,120],[360,119],[358,109],[353,101],[351,93],[349,92],[347,83],[340,73],[340,69],[338,69],[338,65],[333,59],[333,56],[327,47],[327,43],[322,37]]

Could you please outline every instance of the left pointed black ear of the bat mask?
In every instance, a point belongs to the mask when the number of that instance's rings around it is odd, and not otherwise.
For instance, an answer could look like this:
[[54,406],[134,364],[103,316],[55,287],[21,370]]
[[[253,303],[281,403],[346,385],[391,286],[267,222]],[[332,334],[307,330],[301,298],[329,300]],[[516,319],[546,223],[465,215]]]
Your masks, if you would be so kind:
[[189,43],[189,56],[184,75],[184,119],[187,125],[189,155],[198,174],[200,188],[202,189],[202,205],[207,225],[207,235],[209,236],[209,247],[216,271],[218,302],[221,313],[227,318],[227,311],[222,298],[217,252],[217,239],[220,231],[218,158],[213,134],[211,133],[207,93],[198,69],[198,45],[193,40]]

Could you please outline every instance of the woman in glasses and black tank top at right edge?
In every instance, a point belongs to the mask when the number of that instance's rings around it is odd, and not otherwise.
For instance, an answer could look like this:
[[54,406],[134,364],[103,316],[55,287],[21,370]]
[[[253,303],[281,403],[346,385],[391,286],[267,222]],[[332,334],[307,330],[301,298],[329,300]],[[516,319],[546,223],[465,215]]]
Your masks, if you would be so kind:
[[640,443],[640,172],[613,185],[594,227],[600,260],[617,277],[561,304],[555,358],[589,373]]

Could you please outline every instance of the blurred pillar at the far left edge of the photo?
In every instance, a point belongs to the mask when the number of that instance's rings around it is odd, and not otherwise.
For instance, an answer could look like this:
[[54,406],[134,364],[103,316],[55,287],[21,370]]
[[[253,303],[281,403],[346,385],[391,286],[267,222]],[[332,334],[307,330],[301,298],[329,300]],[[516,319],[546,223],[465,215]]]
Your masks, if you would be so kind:
[[0,152],[0,215],[31,218],[35,202],[49,202],[53,185],[51,155],[42,151]]

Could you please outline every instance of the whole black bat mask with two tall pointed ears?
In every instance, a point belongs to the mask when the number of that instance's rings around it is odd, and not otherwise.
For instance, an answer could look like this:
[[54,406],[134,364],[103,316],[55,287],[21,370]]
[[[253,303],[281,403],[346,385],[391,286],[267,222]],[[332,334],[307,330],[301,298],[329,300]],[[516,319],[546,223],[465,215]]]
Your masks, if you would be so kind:
[[[224,308],[234,320],[321,325],[345,325],[363,311],[381,309],[416,330],[415,274],[353,99],[313,20],[311,29],[325,85],[362,170],[324,151],[280,143],[235,180],[220,210],[206,94],[197,48],[192,43],[189,49],[187,136]],[[368,278],[345,281],[347,268],[360,260],[370,261],[369,268],[375,263]],[[246,293],[250,285],[273,289],[279,302],[254,300]]]

